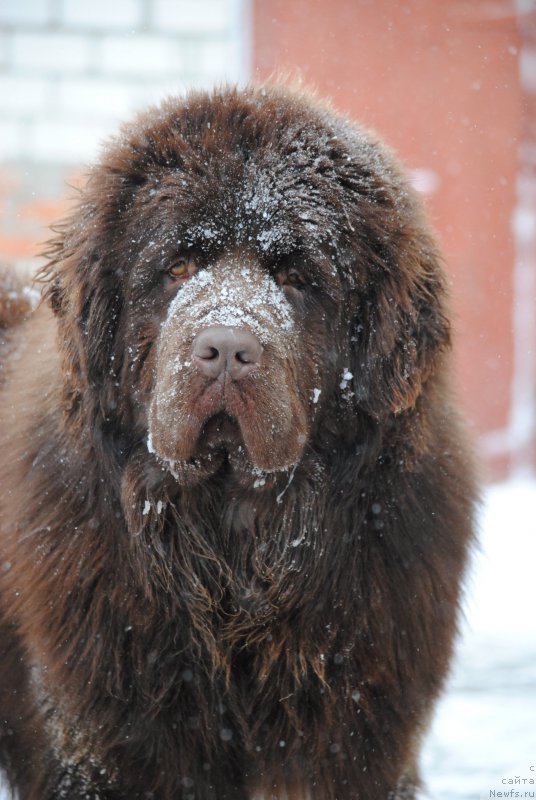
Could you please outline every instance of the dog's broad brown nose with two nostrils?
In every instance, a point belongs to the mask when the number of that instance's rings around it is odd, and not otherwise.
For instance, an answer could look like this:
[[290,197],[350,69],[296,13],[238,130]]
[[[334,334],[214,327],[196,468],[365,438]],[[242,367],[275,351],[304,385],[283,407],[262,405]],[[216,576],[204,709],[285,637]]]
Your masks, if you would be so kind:
[[198,333],[192,356],[195,365],[208,378],[227,373],[241,380],[259,366],[262,345],[252,333],[242,328],[213,325]]

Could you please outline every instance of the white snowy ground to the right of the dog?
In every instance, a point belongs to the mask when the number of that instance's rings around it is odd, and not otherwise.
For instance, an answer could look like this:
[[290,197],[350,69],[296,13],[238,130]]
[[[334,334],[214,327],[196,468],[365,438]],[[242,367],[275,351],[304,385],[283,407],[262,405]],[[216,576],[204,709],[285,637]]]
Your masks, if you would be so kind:
[[424,749],[426,800],[536,798],[536,481],[487,491],[480,539],[458,658]]

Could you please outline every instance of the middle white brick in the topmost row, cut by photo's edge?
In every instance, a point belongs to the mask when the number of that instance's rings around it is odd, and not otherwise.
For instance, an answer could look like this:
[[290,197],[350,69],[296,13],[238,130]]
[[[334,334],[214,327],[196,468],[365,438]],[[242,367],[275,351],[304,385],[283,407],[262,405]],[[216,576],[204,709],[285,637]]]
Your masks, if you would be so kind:
[[61,24],[93,30],[132,30],[141,25],[142,0],[63,0]]

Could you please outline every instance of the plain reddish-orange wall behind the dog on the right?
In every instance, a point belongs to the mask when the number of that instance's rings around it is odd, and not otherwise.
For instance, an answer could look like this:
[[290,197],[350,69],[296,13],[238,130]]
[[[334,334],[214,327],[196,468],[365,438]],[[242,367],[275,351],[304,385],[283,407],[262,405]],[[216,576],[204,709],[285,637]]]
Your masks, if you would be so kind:
[[[476,436],[506,428],[511,214],[521,126],[514,4],[253,0],[254,75],[299,74],[432,170],[431,218],[452,276],[459,392]],[[511,6],[511,8],[510,8]],[[510,10],[509,10],[510,9]],[[488,459],[490,475],[507,466]]]

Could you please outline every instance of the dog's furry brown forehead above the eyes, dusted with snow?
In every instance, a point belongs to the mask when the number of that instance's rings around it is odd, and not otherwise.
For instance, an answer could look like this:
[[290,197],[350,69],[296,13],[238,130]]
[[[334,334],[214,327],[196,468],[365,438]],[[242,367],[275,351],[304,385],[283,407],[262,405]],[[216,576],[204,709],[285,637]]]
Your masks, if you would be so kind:
[[167,148],[146,177],[179,246],[235,244],[278,255],[338,238],[351,214],[339,174],[349,156],[322,120],[288,111],[278,119],[254,104],[237,118],[213,102],[203,114],[181,109],[165,127],[142,137],[165,138]]

